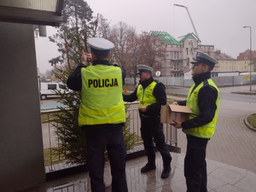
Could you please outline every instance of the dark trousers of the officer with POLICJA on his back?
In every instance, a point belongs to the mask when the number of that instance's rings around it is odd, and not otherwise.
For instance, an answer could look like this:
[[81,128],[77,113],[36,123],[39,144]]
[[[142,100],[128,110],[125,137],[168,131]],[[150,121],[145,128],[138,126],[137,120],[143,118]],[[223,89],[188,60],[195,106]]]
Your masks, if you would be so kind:
[[104,151],[108,151],[108,159],[112,174],[112,191],[127,192],[125,176],[125,143],[123,124],[86,125],[82,127],[87,139],[87,167],[90,175],[92,192],[104,192],[103,182]]

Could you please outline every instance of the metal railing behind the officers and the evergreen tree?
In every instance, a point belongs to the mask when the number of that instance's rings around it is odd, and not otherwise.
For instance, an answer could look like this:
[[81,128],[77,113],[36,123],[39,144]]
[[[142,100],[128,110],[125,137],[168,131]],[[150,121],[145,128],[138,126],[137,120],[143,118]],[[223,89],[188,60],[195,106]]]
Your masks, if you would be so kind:
[[[126,116],[130,118],[128,127],[130,132],[135,133],[136,136],[133,137],[132,142],[135,143],[135,145],[143,144],[140,132],[140,118],[137,108],[138,102],[127,102],[125,103],[125,106],[127,108]],[[58,123],[51,118],[55,113],[60,113],[60,109],[43,110],[41,112],[41,114],[44,114],[44,118],[46,117],[46,120],[42,121],[42,131],[44,157],[47,157],[49,160],[45,167],[47,167],[49,172],[54,172],[54,164],[63,160],[61,153],[58,152],[58,148],[61,146],[61,140],[56,134],[58,131]],[[166,136],[166,143],[169,146],[177,147],[177,129],[173,128],[172,125],[164,124],[164,133]]]

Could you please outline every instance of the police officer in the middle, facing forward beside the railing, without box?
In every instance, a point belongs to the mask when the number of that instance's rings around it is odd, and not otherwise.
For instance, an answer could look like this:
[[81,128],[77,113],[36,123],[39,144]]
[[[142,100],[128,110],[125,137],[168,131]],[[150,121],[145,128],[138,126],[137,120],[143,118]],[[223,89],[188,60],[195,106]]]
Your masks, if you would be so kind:
[[152,67],[138,65],[140,82],[131,95],[124,95],[125,102],[139,101],[139,114],[141,119],[141,134],[143,145],[148,156],[148,163],[141,172],[149,172],[156,168],[154,143],[160,151],[164,169],[162,178],[169,177],[172,157],[165,142],[163,125],[160,123],[160,108],[166,104],[166,88],[164,84],[154,80]]

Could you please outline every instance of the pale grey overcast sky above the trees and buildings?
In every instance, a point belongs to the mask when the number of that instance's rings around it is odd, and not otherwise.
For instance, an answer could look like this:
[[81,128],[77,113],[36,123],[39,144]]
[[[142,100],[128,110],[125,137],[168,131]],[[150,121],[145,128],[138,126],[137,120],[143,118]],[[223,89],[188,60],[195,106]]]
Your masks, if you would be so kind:
[[[193,20],[201,44],[211,44],[236,59],[239,53],[256,46],[256,0],[87,0],[93,15],[101,14],[111,26],[123,21],[137,32],[168,32],[173,38],[194,32]],[[187,9],[174,6],[180,4]],[[55,29],[47,26],[47,35]],[[58,56],[55,44],[48,38],[35,39],[38,67],[50,70],[49,60]]]

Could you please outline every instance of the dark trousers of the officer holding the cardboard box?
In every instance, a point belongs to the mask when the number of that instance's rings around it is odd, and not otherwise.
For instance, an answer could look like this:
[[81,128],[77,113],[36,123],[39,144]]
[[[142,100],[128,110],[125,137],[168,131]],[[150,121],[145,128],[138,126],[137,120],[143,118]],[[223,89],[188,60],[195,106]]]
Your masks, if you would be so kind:
[[208,140],[208,138],[187,135],[187,152],[184,160],[187,192],[207,192],[206,150]]

